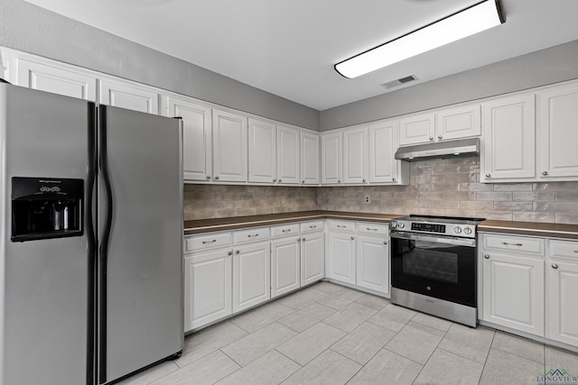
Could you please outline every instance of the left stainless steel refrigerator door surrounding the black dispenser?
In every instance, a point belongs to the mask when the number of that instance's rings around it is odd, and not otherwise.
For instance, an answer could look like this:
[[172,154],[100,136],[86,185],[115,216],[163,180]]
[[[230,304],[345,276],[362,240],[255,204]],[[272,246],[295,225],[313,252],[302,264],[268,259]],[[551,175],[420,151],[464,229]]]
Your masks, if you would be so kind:
[[[94,105],[0,85],[0,383],[84,384],[92,370],[91,262],[83,236],[10,240],[13,177],[89,186]],[[86,211],[86,207],[84,209]],[[87,364],[89,362],[89,370]]]

